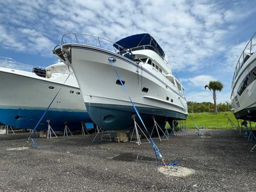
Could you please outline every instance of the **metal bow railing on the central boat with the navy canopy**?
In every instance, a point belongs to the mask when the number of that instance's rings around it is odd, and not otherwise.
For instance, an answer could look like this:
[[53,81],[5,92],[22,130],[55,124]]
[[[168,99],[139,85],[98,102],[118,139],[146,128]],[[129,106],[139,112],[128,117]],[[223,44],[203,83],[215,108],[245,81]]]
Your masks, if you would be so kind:
[[[123,51],[123,50],[125,50],[125,51],[127,51],[127,52],[129,51],[127,48],[124,48],[124,47],[120,46],[119,44],[117,44],[117,43],[115,43],[115,42],[112,42],[111,40],[108,40],[108,39],[105,39],[105,38],[101,38],[100,36],[90,35],[90,34],[82,34],[82,33],[79,33],[79,32],[68,32],[68,33],[64,34],[64,35],[62,36],[62,42],[61,42],[61,44],[64,44],[64,37],[67,36],[67,35],[74,35],[75,38],[76,38],[76,42],[78,42],[79,44],[84,44],[84,43],[80,43],[80,42],[79,42],[78,36],[77,36],[77,35],[82,35],[82,36],[89,36],[89,37],[92,37],[92,38],[96,38],[96,39],[98,40],[98,42],[99,42],[99,46],[100,46],[100,47],[102,47],[102,46],[101,46],[101,43],[100,43],[100,40],[105,40],[105,41],[107,41],[107,42],[109,42],[109,43],[112,43],[112,46],[113,46],[113,44],[115,44],[115,45],[118,47],[119,53],[120,53],[121,51]],[[115,48],[115,47],[114,47],[114,48]],[[115,51],[116,51],[116,49],[115,49]]]

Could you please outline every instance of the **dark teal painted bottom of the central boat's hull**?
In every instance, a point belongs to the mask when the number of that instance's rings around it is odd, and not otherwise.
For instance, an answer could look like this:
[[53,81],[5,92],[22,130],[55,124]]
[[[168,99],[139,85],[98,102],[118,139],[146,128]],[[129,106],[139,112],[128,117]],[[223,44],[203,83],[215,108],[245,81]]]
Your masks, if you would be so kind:
[[[125,130],[134,127],[132,115],[136,115],[136,112],[132,106],[88,103],[86,104],[86,108],[92,121],[104,129]],[[161,128],[164,128],[166,121],[171,122],[173,119],[186,119],[186,116],[182,113],[144,107],[136,108],[148,130],[152,129],[154,125],[152,116],[155,117]],[[139,126],[143,128],[143,124],[141,124],[137,115],[135,119]]]

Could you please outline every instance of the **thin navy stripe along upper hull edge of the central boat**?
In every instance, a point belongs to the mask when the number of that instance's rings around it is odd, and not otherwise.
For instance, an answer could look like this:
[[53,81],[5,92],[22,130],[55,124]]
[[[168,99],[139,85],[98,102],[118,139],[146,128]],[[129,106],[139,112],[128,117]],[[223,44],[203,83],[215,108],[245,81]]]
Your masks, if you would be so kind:
[[159,77],[155,76],[153,73],[151,73],[150,71],[146,70],[145,68],[143,67],[140,67],[139,65],[133,63],[133,62],[130,62],[129,60],[127,59],[124,59],[118,55],[115,55],[115,54],[112,54],[112,53],[109,53],[109,52],[105,52],[105,51],[101,51],[101,50],[97,50],[95,48],[87,48],[87,47],[80,47],[80,46],[71,46],[71,48],[78,48],[78,49],[82,49],[82,50],[91,50],[91,51],[96,51],[96,52],[100,52],[101,54],[105,54],[105,55],[109,55],[109,56],[115,56],[116,58],[120,59],[120,60],[123,60],[124,62],[127,62],[129,64],[131,64],[132,66],[135,66],[136,68],[139,68],[140,70],[143,70],[144,72],[147,72],[149,75],[155,77],[155,79],[159,80],[162,84],[166,85],[169,89],[171,89],[173,92],[175,92],[177,95],[180,95],[182,98],[184,98],[184,96],[182,96],[180,93],[178,93],[177,91],[175,91],[173,88],[169,87],[168,84],[164,83],[164,81],[162,81],[161,79],[159,79]]

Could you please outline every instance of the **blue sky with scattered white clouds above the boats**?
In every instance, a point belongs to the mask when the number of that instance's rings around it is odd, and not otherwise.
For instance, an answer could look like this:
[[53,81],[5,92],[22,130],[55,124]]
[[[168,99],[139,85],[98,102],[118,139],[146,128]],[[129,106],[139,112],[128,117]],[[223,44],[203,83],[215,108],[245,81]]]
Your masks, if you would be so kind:
[[256,1],[21,1],[0,0],[0,56],[46,67],[65,32],[116,42],[147,32],[168,56],[188,101],[213,102],[204,85],[224,84],[217,103],[230,101],[231,80],[256,26]]

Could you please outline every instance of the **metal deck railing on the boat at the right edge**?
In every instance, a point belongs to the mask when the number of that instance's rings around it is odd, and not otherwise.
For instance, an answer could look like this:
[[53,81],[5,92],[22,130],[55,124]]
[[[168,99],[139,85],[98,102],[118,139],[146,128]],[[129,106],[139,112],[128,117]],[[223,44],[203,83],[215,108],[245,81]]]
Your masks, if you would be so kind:
[[[233,75],[233,80],[232,80],[232,85],[231,85],[232,90],[233,90],[233,86],[234,86],[234,83],[235,83],[235,78],[237,77],[237,75],[238,75],[239,71],[241,70],[243,64],[245,64],[245,62],[244,62],[244,60],[245,60],[245,51],[250,51],[250,53],[249,53],[250,55],[254,54],[254,53],[251,52],[253,46],[256,45],[256,44],[253,44],[254,36],[256,36],[256,32],[254,33],[253,37],[249,40],[249,42],[246,44],[245,48],[242,51],[242,54],[240,55],[240,57],[238,59],[237,65],[235,66],[235,72],[234,72],[234,75]],[[249,46],[249,44],[250,44],[250,50],[247,50],[247,47]],[[242,63],[240,63],[241,58],[243,59]]]

